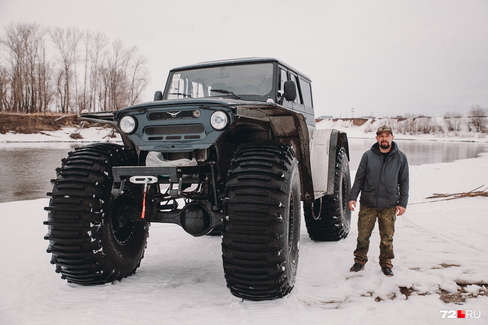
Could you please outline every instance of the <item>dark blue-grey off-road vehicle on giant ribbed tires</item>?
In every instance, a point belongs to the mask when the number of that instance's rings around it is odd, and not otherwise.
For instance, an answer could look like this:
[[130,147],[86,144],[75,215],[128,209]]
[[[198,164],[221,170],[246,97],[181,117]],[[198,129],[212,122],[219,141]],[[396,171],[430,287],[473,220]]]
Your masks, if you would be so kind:
[[81,113],[123,146],[75,148],[52,180],[48,253],[70,283],[133,274],[150,223],[222,235],[227,287],[280,298],[298,266],[301,202],[312,240],[350,227],[345,133],[316,130],[310,79],[275,58],[204,62],[170,71],[153,102]]

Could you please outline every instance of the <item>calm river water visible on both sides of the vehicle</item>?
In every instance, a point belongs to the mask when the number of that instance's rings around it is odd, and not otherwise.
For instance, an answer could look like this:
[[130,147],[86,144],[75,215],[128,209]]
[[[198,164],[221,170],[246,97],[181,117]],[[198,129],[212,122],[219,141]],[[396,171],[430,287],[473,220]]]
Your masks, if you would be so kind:
[[[407,154],[408,164],[422,165],[473,158],[488,151],[487,143],[447,141],[395,141]],[[356,170],[373,139],[349,138],[350,169]],[[80,143],[0,143],[0,202],[45,198],[52,190],[61,158]]]

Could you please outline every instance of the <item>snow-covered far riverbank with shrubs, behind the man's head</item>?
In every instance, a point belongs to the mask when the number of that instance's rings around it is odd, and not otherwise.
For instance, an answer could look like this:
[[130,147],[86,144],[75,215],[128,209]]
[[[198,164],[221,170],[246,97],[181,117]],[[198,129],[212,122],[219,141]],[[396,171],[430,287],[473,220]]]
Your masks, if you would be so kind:
[[[466,118],[464,118],[466,119]],[[376,136],[376,130],[382,125],[388,125],[393,129],[393,134],[397,140],[437,140],[437,141],[470,141],[470,142],[488,142],[488,134],[482,132],[469,132],[467,123],[462,125],[461,131],[447,131],[445,125],[445,119],[442,117],[432,118],[432,119],[419,119],[421,122],[430,125],[431,131],[429,134],[417,133],[403,134],[399,132],[400,130],[405,130],[405,123],[408,121],[398,122],[394,118],[370,118],[365,124],[358,126],[355,125],[351,120],[341,120],[338,119],[334,122],[332,119],[324,119],[317,122],[317,129],[336,129],[340,131],[347,132],[347,137],[355,138],[371,138],[374,139]],[[410,120],[410,122],[413,122]],[[422,126],[422,125],[421,125]],[[420,127],[421,127],[420,126]],[[419,126],[417,126],[419,127]]]

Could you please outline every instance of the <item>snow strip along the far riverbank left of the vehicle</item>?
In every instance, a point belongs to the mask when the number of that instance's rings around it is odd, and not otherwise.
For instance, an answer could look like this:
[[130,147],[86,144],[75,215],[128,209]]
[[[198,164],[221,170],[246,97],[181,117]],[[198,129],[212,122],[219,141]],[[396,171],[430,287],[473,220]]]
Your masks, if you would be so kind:
[[[63,127],[58,131],[41,131],[40,133],[21,134],[7,132],[0,134],[1,142],[122,142],[120,134],[110,137],[111,128],[91,127],[77,131],[77,128]],[[81,134],[81,139],[73,139],[70,134]]]

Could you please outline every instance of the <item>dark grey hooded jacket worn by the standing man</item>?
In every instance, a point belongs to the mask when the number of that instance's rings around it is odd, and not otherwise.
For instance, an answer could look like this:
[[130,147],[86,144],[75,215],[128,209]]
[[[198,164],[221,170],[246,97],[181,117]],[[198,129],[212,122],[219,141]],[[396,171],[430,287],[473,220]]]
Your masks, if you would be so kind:
[[407,208],[408,201],[408,162],[405,153],[391,142],[391,150],[386,157],[380,153],[378,143],[366,151],[359,163],[356,178],[349,194],[349,201],[377,209],[396,206]]

